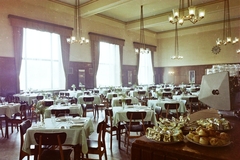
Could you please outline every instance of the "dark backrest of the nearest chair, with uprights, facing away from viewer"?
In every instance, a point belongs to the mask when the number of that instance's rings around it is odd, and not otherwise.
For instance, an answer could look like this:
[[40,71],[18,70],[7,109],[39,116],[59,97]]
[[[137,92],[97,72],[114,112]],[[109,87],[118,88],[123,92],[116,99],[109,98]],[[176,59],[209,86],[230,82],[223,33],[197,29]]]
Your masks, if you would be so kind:
[[[39,145],[38,153],[42,153],[42,145],[56,145],[59,146],[61,160],[64,160],[62,144],[66,141],[67,134],[65,132],[60,133],[35,133],[34,139]],[[41,156],[39,156],[41,157]],[[41,158],[39,158],[41,159]]]

